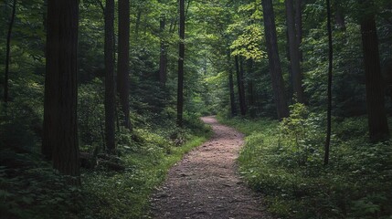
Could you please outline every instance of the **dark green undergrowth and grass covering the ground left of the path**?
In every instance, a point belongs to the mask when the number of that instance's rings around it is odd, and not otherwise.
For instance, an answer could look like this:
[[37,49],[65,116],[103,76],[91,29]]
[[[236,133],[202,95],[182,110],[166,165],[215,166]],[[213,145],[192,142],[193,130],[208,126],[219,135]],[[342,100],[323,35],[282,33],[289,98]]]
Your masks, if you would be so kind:
[[[20,125],[6,122],[3,120],[0,128]],[[185,118],[185,129],[175,128],[168,119],[157,122],[160,125],[139,124],[132,133],[118,131],[117,159],[125,170],[116,172],[99,164],[82,169],[80,187],[69,185],[69,179],[53,172],[50,163],[39,155],[37,141],[24,141],[23,150],[15,151],[5,144],[13,135],[3,132],[0,218],[149,218],[149,197],[164,182],[166,172],[185,152],[207,141],[211,133],[195,116]],[[99,141],[82,143],[80,149],[92,152],[97,145]]]

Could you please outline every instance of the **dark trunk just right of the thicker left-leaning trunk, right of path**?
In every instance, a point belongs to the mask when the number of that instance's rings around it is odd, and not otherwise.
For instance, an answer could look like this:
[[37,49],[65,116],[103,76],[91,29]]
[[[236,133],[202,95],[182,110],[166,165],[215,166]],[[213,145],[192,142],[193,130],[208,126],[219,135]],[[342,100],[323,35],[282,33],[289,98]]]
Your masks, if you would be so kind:
[[300,45],[295,31],[294,5],[292,0],[286,0],[286,21],[291,63],[292,88],[298,102],[304,103],[302,89],[302,73],[300,64]]

